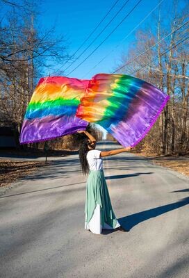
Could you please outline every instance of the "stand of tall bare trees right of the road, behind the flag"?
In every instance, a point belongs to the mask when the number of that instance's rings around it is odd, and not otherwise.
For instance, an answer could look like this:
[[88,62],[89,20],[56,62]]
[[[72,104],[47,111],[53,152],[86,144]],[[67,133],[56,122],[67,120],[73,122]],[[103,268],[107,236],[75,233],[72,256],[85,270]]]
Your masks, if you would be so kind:
[[166,3],[153,15],[153,24],[136,33],[135,42],[119,65],[126,64],[122,72],[156,85],[171,97],[141,143],[150,152],[185,154],[189,150],[187,10],[187,2]]

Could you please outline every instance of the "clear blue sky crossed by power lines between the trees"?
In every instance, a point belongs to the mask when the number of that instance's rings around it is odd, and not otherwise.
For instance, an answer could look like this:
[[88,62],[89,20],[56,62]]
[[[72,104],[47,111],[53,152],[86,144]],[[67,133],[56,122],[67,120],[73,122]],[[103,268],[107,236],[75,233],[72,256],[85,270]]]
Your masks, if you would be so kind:
[[[110,21],[110,19],[117,13],[117,11],[124,4],[124,0],[120,0],[117,2],[117,5],[111,13],[106,17],[104,22],[99,26],[97,31],[92,35],[90,40],[84,44],[82,49],[78,52],[77,55],[85,49],[85,47],[92,42],[94,37],[106,26],[106,24]],[[66,74],[69,74],[70,71],[74,69],[82,60],[85,59],[88,54],[92,50],[94,50],[97,45],[106,38],[106,36],[120,23],[120,21],[126,16],[126,13],[135,6],[138,0],[130,0],[124,9],[121,11],[119,15],[113,20],[113,22],[106,28],[104,33],[102,33],[99,38],[92,44],[92,46],[88,49],[88,51],[79,58],[69,67]],[[74,51],[80,47],[85,38],[88,37],[90,32],[97,26],[97,24],[101,21],[101,19],[106,15],[111,6],[113,6],[115,0],[104,0],[104,1],[60,1],[60,0],[46,0],[42,3],[42,13],[40,14],[40,20],[42,26],[44,28],[49,28],[56,24],[56,35],[65,35],[68,44],[68,53],[72,56]],[[113,35],[104,42],[104,44],[97,49],[97,51],[88,58],[78,69],[76,69],[72,74],[69,74],[69,77],[76,77],[79,79],[85,78],[90,79],[94,74],[100,72],[110,73],[113,71],[113,68],[117,63],[119,63],[120,56],[122,52],[126,52],[129,44],[131,44],[134,40],[135,33],[132,33],[124,42],[122,40],[125,38],[129,32],[135,28],[135,26],[140,23],[140,21],[158,4],[158,0],[150,1],[150,0],[142,0],[137,8],[133,10],[133,13],[129,15],[129,17],[120,25],[119,28],[113,33]],[[151,17],[149,17],[145,22],[143,22],[139,28],[145,28],[147,24],[153,24],[151,22]],[[116,48],[116,51],[113,51],[108,58],[106,58],[103,63],[98,65],[95,69],[91,70],[94,65],[96,65],[106,54],[115,49],[118,43],[120,47]],[[67,67],[66,64],[65,67]],[[55,69],[58,70],[61,65],[56,65]],[[63,67],[63,69],[65,69]],[[89,72],[91,70],[91,72]],[[89,72],[89,73],[88,73]],[[57,75],[53,70],[47,72],[47,74]]]

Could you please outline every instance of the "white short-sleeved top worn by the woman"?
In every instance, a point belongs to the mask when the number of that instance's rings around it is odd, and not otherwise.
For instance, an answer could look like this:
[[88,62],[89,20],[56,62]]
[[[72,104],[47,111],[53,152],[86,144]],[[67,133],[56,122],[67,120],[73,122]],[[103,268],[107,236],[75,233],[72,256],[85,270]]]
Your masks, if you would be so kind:
[[92,149],[87,154],[89,169],[92,171],[102,170],[102,159],[100,157],[101,151]]

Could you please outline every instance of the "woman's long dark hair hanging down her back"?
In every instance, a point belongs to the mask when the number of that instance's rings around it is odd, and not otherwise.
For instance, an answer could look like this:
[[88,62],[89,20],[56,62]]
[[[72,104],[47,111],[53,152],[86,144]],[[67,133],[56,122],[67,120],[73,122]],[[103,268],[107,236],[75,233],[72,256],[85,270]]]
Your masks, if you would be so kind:
[[85,138],[79,146],[79,159],[81,163],[81,170],[85,175],[89,172],[87,154],[90,149],[88,148],[88,145],[90,145],[90,141],[87,138]]

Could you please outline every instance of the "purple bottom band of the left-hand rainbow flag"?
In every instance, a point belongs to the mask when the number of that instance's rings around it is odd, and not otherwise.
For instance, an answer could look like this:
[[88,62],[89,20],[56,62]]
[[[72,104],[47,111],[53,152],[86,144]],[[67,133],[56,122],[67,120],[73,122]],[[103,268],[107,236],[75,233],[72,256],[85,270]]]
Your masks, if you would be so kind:
[[50,140],[76,131],[86,129],[88,122],[76,116],[47,116],[33,120],[24,120],[20,144]]

